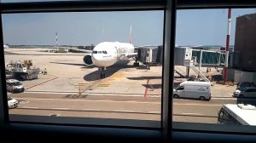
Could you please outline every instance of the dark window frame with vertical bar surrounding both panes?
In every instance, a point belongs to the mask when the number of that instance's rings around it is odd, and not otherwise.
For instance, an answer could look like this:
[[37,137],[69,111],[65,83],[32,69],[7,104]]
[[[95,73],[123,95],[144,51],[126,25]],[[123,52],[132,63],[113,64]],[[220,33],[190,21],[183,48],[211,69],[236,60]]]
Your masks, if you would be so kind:
[[[38,3],[0,3],[1,15],[0,26],[2,26],[2,14],[14,13],[41,13],[41,12],[88,12],[88,11],[130,11],[130,10],[165,10],[164,21],[164,63],[162,78],[162,100],[161,100],[161,129],[129,129],[102,126],[62,126],[44,123],[10,123],[7,103],[7,92],[4,70],[4,51],[0,49],[0,129],[6,134],[4,139],[13,138],[21,135],[37,140],[38,137],[44,139],[48,137],[63,137],[73,135],[83,139],[84,136],[94,138],[102,136],[103,140],[109,141],[125,139],[149,140],[158,142],[193,142],[193,141],[250,141],[256,142],[256,135],[253,133],[232,133],[216,131],[218,127],[196,130],[194,123],[172,123],[172,94],[173,75],[174,75],[174,47],[175,47],[175,28],[176,12],[178,9],[220,9],[220,8],[256,8],[255,0],[87,0],[75,2],[38,2]],[[3,29],[0,30],[0,43],[3,45]],[[166,61],[166,62],[165,62]],[[187,126],[179,129],[179,125]],[[204,127],[204,124],[196,124]],[[210,126],[211,127],[211,126]],[[253,128],[255,129],[255,128]],[[213,130],[213,131],[212,131]],[[215,131],[214,131],[215,130]],[[239,135],[237,135],[239,134]],[[66,137],[66,138],[65,138]],[[15,139],[13,139],[15,140]],[[18,139],[17,139],[18,140]],[[41,140],[41,139],[40,139]],[[72,139],[69,139],[72,140]],[[113,141],[114,142],[114,141]]]

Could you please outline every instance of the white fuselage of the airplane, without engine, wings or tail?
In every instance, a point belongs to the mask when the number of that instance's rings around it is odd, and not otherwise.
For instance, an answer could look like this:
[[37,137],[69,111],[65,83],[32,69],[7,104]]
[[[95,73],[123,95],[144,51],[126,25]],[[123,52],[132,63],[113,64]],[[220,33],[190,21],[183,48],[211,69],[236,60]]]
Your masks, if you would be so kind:
[[134,46],[131,43],[103,42],[93,49],[91,60],[95,66],[108,67],[119,60],[126,60],[131,53],[134,53]]

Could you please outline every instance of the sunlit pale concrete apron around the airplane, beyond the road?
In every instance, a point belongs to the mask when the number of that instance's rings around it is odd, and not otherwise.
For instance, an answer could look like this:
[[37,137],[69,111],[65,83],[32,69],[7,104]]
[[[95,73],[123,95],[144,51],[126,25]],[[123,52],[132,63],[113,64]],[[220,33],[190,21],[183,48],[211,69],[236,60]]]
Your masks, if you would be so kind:
[[[10,60],[32,60],[33,66],[44,70],[47,74],[39,74],[38,79],[22,81],[28,93],[71,93],[102,96],[141,96],[161,97],[162,66],[133,67],[134,60],[125,60],[107,68],[106,78],[100,78],[96,66],[85,66],[84,53],[49,53],[45,49],[4,49],[5,63]],[[185,72],[185,66],[179,66]],[[221,72],[207,68],[201,71],[212,77],[221,77]],[[190,75],[196,75],[190,70]],[[174,85],[186,78],[174,74]],[[217,78],[216,78],[217,79]],[[235,86],[212,82],[212,98],[233,98]]]

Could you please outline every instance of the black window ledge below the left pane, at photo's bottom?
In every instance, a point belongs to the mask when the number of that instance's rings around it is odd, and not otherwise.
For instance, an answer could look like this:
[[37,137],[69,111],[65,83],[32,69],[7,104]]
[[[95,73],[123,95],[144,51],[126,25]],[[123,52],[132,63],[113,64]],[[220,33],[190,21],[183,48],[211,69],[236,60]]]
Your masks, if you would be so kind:
[[[111,140],[118,142],[139,142],[150,140],[161,142],[161,130],[154,129],[127,129],[113,127],[82,127],[82,126],[63,126],[49,124],[32,124],[32,123],[7,123],[2,128],[1,141],[8,142],[51,142],[59,141],[75,141],[75,140],[93,140],[108,142]],[[84,142],[83,141],[83,142]]]

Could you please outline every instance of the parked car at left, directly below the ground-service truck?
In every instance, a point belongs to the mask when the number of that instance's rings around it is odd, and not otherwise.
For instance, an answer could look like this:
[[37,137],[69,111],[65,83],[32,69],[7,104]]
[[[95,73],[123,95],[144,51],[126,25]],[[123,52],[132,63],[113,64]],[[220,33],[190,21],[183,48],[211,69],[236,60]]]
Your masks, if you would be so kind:
[[7,89],[7,91],[9,91],[11,93],[24,91],[24,87],[23,87],[22,83],[20,83],[20,81],[18,81],[16,79],[6,80],[6,89]]

